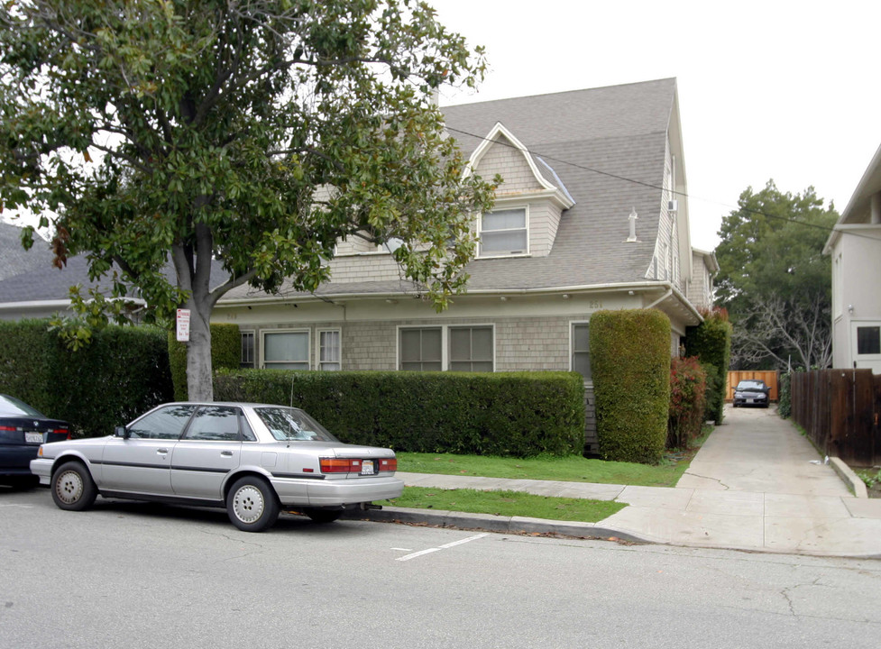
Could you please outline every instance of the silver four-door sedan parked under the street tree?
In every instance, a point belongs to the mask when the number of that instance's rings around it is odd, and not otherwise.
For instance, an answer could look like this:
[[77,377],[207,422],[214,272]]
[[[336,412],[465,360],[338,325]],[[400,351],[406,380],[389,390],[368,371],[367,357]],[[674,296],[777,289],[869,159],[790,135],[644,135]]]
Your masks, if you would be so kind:
[[164,404],[107,437],[42,444],[31,462],[62,509],[98,495],[225,507],[246,532],[282,509],[328,523],[397,498],[397,468],[390,449],[341,443],[298,408],[244,403]]

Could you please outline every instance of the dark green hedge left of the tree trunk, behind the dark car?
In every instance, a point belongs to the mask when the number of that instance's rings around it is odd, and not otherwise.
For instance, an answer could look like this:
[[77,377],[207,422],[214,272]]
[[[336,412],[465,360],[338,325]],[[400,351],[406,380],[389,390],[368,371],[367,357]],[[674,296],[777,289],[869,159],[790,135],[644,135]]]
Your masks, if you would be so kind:
[[46,416],[66,419],[77,435],[113,433],[172,397],[165,332],[108,326],[70,351],[46,320],[0,322],[0,392]]

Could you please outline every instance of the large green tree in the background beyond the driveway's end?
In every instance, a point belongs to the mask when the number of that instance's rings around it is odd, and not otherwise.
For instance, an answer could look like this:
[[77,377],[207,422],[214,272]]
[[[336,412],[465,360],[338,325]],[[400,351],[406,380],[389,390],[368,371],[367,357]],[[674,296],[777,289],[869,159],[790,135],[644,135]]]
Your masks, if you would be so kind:
[[822,248],[838,220],[813,187],[748,187],[725,216],[716,248],[717,302],[734,325],[734,369],[824,368],[831,362],[831,261]]

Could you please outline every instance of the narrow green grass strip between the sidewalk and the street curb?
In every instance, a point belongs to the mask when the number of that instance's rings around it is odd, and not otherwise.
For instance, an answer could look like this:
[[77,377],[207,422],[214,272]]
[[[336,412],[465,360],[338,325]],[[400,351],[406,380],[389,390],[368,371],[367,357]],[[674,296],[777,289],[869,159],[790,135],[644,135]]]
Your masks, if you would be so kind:
[[520,491],[479,491],[477,489],[427,489],[407,487],[400,498],[383,500],[381,505],[413,507],[436,511],[471,512],[495,516],[529,516],[550,520],[595,523],[623,507],[623,503],[588,498],[551,498]]

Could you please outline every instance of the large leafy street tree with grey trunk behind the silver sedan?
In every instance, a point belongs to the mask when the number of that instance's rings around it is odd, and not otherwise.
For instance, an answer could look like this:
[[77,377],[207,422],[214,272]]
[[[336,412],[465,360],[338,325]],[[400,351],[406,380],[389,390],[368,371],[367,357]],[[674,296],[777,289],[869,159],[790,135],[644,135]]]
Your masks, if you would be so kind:
[[[147,317],[191,311],[190,398],[213,396],[217,300],[315,290],[341,238],[402,242],[438,309],[463,289],[494,187],[431,98],[484,63],[424,3],[12,0],[0,42],[3,208],[53,226],[56,264],[84,254],[111,297],[136,288]],[[122,315],[73,297],[74,343]]]

